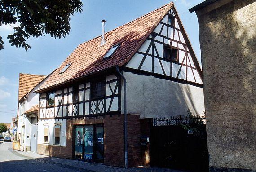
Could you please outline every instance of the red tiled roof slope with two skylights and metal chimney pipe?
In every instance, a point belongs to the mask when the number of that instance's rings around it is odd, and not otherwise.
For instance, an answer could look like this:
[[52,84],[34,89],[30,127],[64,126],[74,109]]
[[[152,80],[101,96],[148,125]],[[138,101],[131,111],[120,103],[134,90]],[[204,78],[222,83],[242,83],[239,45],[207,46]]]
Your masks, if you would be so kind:
[[[107,32],[105,34],[106,44],[102,46],[101,36],[80,44],[36,92],[106,70],[116,65],[124,65],[172,6],[173,3],[166,4],[132,22]],[[116,44],[120,45],[115,53],[110,58],[103,59],[108,50]],[[60,74],[60,71],[68,64],[71,64],[71,66],[64,73]]]

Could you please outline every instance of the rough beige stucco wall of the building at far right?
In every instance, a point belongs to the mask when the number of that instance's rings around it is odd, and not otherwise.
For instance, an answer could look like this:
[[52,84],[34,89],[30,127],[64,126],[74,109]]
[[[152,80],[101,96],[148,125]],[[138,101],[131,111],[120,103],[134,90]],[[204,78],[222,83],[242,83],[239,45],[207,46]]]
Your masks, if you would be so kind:
[[214,5],[197,11],[210,166],[256,170],[256,2]]

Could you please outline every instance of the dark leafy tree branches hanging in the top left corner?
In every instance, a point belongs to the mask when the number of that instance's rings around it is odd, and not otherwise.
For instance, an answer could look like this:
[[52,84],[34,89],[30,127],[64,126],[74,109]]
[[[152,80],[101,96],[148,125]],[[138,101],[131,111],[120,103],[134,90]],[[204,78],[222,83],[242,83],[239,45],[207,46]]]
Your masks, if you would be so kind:
[[[82,5],[80,0],[0,0],[0,26],[20,23],[7,38],[12,46],[22,46],[27,51],[31,48],[26,43],[30,35],[50,34],[55,39],[68,35],[70,17],[81,13]],[[3,48],[0,36],[0,50]]]

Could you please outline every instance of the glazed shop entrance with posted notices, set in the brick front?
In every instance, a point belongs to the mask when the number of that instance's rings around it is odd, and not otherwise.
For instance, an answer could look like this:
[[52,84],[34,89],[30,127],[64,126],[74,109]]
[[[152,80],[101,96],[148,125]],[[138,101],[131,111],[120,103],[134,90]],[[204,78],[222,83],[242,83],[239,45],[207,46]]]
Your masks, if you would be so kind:
[[103,163],[103,124],[75,126],[75,159]]

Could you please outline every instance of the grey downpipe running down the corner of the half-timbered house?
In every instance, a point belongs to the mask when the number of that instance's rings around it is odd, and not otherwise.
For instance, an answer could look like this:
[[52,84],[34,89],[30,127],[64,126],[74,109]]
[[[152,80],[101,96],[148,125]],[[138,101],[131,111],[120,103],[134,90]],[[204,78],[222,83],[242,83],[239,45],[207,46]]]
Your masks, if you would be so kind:
[[124,162],[125,168],[128,168],[128,154],[127,154],[127,107],[126,107],[126,78],[119,71],[119,66],[116,66],[117,73],[123,78],[124,81]]

